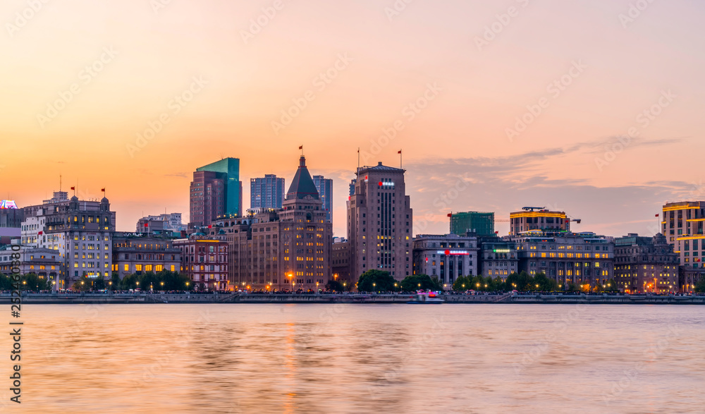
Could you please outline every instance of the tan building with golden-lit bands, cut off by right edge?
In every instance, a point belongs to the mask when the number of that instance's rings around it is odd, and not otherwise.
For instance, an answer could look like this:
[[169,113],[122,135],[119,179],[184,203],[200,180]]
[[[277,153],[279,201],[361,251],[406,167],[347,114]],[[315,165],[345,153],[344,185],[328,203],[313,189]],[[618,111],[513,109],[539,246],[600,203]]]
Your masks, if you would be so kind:
[[669,202],[663,206],[663,236],[673,246],[680,265],[705,271],[705,201]]

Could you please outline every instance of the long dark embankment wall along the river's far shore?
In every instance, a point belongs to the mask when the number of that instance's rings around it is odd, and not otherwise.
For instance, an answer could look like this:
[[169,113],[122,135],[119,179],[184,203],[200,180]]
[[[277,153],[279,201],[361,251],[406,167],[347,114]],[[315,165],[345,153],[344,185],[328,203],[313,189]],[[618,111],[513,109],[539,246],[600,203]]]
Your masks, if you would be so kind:
[[[705,296],[625,295],[615,293],[520,293],[439,295],[454,303],[556,303],[610,305],[705,305]],[[407,303],[416,295],[405,293],[23,293],[23,304],[109,303]],[[0,304],[11,303],[10,293],[0,294]]]

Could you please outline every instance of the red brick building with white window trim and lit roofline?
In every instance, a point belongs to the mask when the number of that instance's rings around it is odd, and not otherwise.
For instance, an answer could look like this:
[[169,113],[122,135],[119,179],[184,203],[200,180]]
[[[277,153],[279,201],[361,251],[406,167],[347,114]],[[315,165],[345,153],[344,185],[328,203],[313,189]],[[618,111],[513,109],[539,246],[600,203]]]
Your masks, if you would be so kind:
[[173,247],[180,250],[180,273],[188,276],[198,290],[228,288],[228,242],[196,233],[175,239]]

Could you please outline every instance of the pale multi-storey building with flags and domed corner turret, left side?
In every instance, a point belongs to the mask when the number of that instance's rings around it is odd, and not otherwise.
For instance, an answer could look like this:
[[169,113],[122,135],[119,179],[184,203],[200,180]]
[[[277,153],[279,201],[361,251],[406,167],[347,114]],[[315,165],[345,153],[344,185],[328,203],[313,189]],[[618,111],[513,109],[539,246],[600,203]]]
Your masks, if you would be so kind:
[[68,202],[56,198],[25,209],[23,239],[37,248],[56,250],[63,261],[57,289],[71,288],[82,276],[109,279],[115,231],[109,200],[78,200],[75,195]]

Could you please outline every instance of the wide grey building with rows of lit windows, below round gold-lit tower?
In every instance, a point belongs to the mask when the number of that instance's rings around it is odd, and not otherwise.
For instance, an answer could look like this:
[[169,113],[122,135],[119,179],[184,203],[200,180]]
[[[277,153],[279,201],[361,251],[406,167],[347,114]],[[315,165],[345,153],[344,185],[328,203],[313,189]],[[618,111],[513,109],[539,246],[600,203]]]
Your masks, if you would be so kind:
[[528,231],[507,240],[517,244],[519,272],[543,272],[563,288],[571,283],[607,284],[614,277],[614,243],[605,236]]

